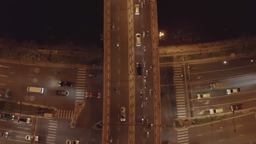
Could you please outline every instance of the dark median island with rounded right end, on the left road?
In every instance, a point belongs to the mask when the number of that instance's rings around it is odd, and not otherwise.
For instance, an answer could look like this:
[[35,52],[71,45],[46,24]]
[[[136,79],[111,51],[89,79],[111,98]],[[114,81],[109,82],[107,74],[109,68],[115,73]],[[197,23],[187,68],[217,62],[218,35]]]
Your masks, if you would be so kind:
[[57,116],[57,109],[55,107],[48,107],[43,105],[32,105],[14,101],[0,101],[0,111],[7,113],[15,113],[16,115],[28,115],[55,118]]

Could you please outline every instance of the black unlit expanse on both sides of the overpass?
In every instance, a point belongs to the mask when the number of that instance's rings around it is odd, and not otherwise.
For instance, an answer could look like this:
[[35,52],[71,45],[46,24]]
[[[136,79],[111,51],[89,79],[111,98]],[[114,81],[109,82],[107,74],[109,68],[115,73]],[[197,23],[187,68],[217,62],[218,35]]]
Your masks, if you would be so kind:
[[[255,35],[255,3],[239,2],[158,0],[159,31],[166,45]],[[4,1],[0,16],[0,38],[18,41],[95,44],[103,32],[103,0]]]

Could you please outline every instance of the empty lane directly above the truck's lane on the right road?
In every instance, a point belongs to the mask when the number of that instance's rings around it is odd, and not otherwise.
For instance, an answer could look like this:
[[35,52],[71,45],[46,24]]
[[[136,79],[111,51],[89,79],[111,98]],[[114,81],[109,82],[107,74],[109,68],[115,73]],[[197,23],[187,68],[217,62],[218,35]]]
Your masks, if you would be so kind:
[[240,76],[251,75],[255,72],[256,72],[255,65],[250,65],[248,67],[240,67],[240,68],[234,68],[234,69],[225,69],[225,70],[219,70],[219,71],[204,71],[201,73],[190,73],[190,80],[196,82],[196,81],[205,81],[205,80],[226,79],[226,78],[234,77],[238,75]]

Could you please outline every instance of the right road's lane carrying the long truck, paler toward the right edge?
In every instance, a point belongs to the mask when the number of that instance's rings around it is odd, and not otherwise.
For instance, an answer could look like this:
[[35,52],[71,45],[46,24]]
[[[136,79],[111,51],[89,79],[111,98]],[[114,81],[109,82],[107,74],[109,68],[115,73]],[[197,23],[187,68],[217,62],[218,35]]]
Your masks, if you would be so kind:
[[[192,91],[205,91],[205,90],[208,91],[208,89],[211,89],[210,87],[211,84],[226,81],[229,83],[229,86],[225,88],[228,89],[229,87],[252,85],[256,83],[255,79],[256,79],[256,75],[253,74],[253,75],[230,78],[226,80],[190,82],[190,86]],[[219,88],[219,89],[223,89],[223,88]]]

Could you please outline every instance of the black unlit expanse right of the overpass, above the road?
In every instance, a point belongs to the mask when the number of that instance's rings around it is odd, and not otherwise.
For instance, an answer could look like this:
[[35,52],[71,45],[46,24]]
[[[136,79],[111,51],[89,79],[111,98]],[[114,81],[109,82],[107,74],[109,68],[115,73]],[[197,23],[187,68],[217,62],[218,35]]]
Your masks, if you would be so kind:
[[158,1],[162,45],[195,44],[255,35],[256,1]]

